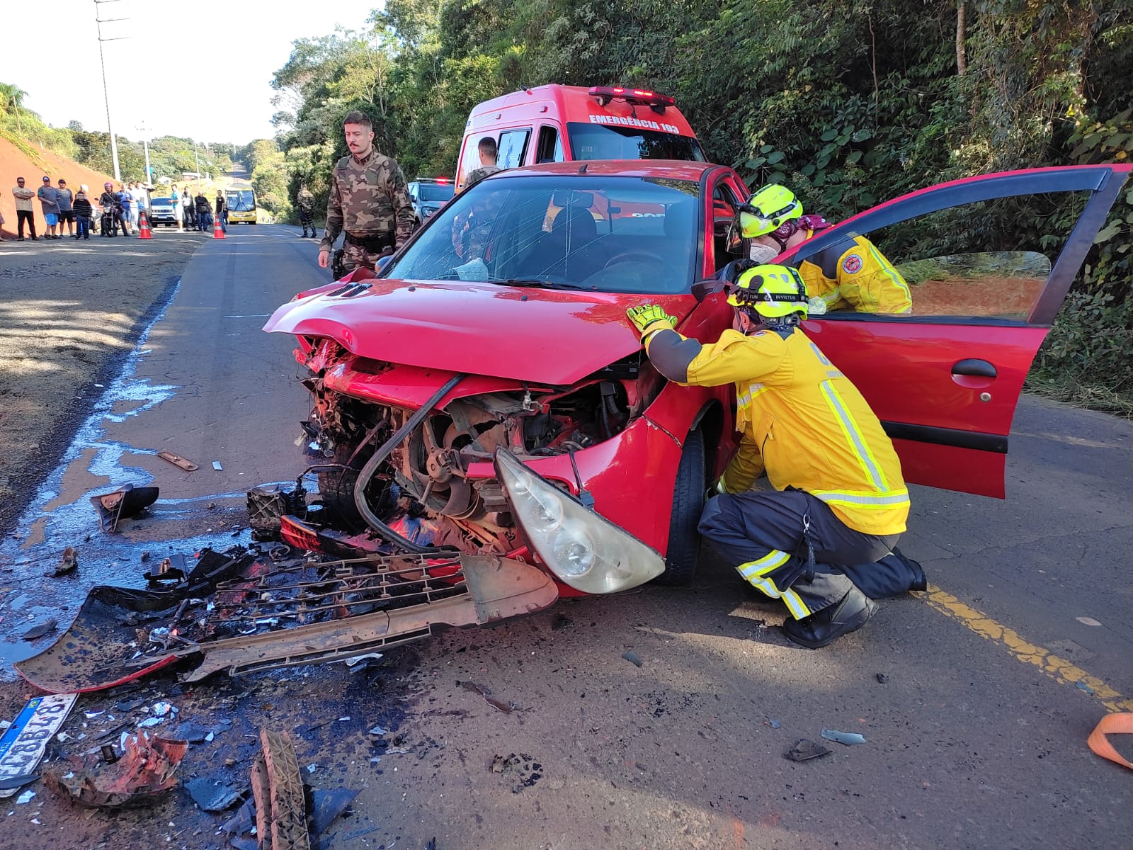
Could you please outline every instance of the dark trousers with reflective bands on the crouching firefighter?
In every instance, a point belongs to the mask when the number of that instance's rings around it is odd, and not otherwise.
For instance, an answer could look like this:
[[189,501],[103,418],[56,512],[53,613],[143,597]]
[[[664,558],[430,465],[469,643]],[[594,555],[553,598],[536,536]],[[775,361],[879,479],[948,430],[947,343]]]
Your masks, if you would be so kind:
[[878,600],[905,593],[919,578],[893,554],[901,535],[857,532],[801,490],[709,499],[700,515],[700,534],[752,587],[783,600],[796,620],[833,605],[853,587]]

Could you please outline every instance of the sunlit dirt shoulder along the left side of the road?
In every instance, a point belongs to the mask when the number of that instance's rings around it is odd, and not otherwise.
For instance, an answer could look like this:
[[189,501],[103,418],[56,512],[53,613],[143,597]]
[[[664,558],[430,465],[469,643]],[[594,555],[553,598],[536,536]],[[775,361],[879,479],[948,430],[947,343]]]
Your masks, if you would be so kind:
[[[196,238],[195,238],[196,237]],[[0,244],[0,530],[11,532],[199,235]]]

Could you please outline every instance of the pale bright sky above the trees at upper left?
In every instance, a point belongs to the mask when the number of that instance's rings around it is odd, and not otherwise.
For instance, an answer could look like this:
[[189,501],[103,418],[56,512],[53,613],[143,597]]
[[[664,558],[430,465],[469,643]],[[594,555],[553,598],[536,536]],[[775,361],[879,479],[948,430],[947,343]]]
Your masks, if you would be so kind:
[[[101,25],[114,133],[246,144],[271,138],[272,75],[296,39],[361,29],[383,0],[2,0],[0,83],[54,127],[107,129]],[[125,20],[110,22],[110,18]],[[193,70],[195,69],[195,71]]]

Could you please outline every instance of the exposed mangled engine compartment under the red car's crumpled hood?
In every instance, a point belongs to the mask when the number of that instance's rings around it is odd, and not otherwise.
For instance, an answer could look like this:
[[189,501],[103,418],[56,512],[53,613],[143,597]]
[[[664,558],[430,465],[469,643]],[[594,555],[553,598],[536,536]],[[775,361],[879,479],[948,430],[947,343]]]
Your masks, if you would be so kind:
[[[390,364],[357,357],[332,340],[313,340],[306,363],[312,411],[304,423],[324,507],[351,530],[365,530],[356,504],[359,470],[416,413],[326,386],[334,369],[381,375]],[[365,483],[366,505],[390,528],[470,554],[520,549],[500,483],[485,477],[497,448],[522,460],[583,451],[624,431],[665,380],[637,352],[571,386],[536,386],[457,398],[429,413],[389,449]],[[341,385],[341,383],[338,383]],[[482,465],[470,475],[474,465]]]

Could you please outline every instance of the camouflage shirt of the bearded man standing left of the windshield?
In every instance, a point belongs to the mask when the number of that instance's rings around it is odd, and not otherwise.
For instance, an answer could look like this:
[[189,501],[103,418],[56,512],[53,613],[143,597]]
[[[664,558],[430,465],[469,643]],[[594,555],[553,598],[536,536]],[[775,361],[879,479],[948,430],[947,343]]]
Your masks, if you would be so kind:
[[394,247],[401,247],[414,232],[414,207],[406,176],[397,162],[376,148],[363,161],[347,155],[334,167],[320,250],[331,249],[343,226],[357,237],[390,233]]

